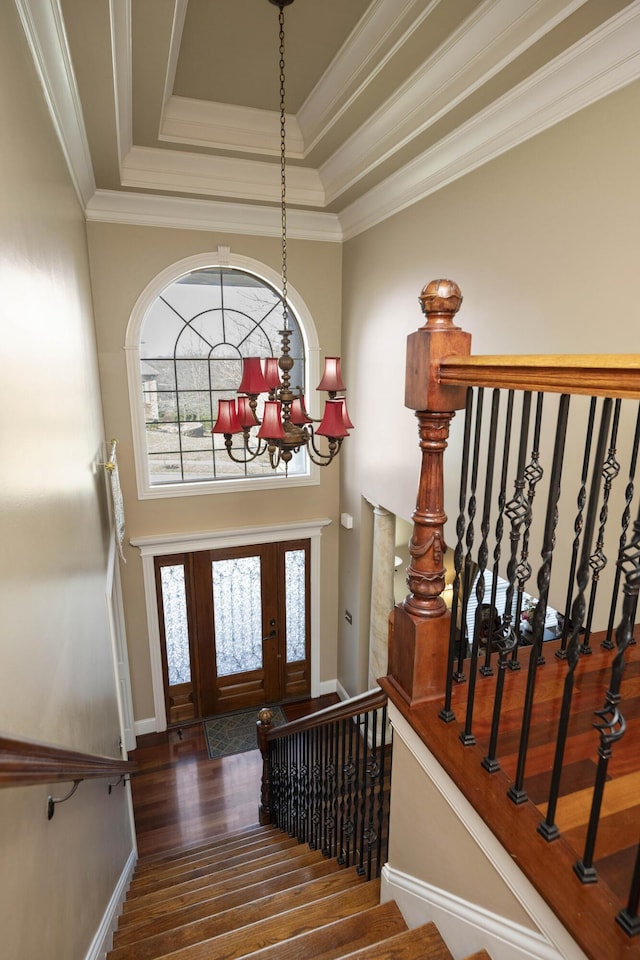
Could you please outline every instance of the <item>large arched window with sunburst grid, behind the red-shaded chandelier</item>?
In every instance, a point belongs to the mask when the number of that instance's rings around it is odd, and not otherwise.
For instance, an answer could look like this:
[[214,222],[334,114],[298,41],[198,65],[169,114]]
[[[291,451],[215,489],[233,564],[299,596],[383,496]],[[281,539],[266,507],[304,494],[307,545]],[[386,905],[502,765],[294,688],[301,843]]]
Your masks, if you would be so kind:
[[[230,484],[254,489],[274,480],[268,458],[235,462],[224,438],[211,428],[218,401],[236,395],[242,358],[280,355],[282,297],[275,275],[244,258],[235,257],[232,263],[224,257],[229,262],[213,264],[202,259],[189,258],[156,278],[129,324],[127,358],[141,497],[208,493]],[[185,270],[186,264],[192,268]],[[291,383],[305,390],[309,333],[315,346],[315,332],[310,317],[303,327],[300,313],[306,311],[297,300],[290,289]],[[312,352],[317,355],[317,350]],[[234,454],[243,458],[242,437],[235,441]],[[276,482],[312,479],[303,450],[289,464],[287,477],[278,476]]]

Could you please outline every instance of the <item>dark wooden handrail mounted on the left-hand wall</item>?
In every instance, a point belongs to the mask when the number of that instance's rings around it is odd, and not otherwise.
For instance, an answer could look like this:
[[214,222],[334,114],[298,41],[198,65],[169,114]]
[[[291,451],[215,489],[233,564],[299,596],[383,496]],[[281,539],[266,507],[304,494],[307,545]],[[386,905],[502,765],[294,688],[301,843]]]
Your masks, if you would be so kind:
[[0,787],[123,777],[136,769],[137,764],[130,760],[81,753],[36,740],[0,736]]

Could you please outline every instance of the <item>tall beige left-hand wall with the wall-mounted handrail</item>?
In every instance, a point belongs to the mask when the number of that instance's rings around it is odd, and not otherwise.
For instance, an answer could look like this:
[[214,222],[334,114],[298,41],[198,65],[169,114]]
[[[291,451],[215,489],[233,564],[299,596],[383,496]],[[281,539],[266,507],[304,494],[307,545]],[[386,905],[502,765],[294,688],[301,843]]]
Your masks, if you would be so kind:
[[[15,6],[0,5],[0,730],[119,756],[82,211]],[[86,956],[132,849],[125,790],[0,791],[2,953]]]

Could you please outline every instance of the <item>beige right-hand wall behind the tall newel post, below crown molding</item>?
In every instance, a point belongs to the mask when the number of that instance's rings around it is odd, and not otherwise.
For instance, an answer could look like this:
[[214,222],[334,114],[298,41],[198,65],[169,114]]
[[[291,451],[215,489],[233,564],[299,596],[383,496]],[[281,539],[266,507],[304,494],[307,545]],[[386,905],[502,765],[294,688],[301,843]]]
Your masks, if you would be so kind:
[[[414,509],[405,344],[423,322],[417,296],[429,280],[459,283],[474,353],[640,352],[639,110],[635,83],[345,244],[342,351],[358,429],[344,454],[343,510],[357,517],[362,495],[405,519]],[[458,416],[452,448],[461,425]],[[455,478],[453,449],[448,467]],[[456,482],[445,500],[453,517]],[[342,564],[347,606],[359,584],[357,562]],[[341,624],[341,649],[351,639]],[[347,671],[356,661],[351,652],[340,662]],[[353,672],[340,680],[360,682]]]

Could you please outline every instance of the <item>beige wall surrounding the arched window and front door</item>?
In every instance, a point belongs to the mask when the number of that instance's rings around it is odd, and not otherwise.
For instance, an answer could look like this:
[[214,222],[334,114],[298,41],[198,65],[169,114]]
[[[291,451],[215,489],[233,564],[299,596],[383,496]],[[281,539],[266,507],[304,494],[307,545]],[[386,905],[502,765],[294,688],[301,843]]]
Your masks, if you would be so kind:
[[[321,471],[316,486],[263,492],[138,500],[133,463],[125,334],[140,293],[162,270],[185,257],[211,252],[218,245],[279,270],[278,239],[241,237],[187,230],[89,224],[89,247],[107,434],[120,441],[119,465],[127,517],[127,538],[166,533],[231,530],[328,517],[321,538],[320,679],[334,680],[338,587],[339,472]],[[341,249],[337,244],[292,240],[288,275],[316,325],[321,357],[340,349]],[[349,377],[348,365],[345,376]],[[136,720],[153,716],[149,641],[142,565],[136,548],[127,547],[122,572]]]

